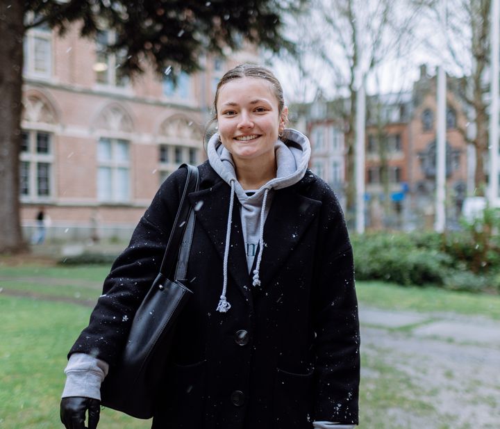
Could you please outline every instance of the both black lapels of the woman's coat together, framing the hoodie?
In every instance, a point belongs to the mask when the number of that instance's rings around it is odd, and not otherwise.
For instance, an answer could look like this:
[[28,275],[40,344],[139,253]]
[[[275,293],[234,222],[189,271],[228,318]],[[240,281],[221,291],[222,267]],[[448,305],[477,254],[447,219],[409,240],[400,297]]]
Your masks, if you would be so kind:
[[[204,168],[206,166],[205,164],[200,169],[201,191],[191,193],[189,199],[192,207],[197,209],[197,221],[219,254],[220,259],[215,263],[222,266],[231,188],[210,166],[206,170]],[[207,174],[204,178],[203,172]],[[322,202],[301,195],[301,191],[313,181],[315,177],[310,172],[306,172],[306,176],[294,186],[274,191],[272,205],[264,225],[266,247],[260,263],[260,282],[263,289],[269,288],[288,255],[299,245],[310,223],[319,216]],[[238,284],[238,288],[249,305],[253,305],[251,291],[253,286],[251,286],[252,280],[244,250],[240,204],[236,198],[231,224],[228,275],[231,275],[234,282]]]

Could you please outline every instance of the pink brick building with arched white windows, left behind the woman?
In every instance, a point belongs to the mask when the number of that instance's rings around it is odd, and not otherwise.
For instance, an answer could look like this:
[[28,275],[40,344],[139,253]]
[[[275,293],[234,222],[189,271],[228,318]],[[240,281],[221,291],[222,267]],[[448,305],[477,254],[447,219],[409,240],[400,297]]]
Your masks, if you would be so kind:
[[222,74],[258,58],[207,55],[205,70],[192,76],[167,69],[131,81],[119,54],[103,48],[113,32],[89,40],[77,27],[61,38],[41,26],[24,42],[22,225],[29,233],[43,204],[49,239],[128,237],[165,177],[205,159],[203,133]]

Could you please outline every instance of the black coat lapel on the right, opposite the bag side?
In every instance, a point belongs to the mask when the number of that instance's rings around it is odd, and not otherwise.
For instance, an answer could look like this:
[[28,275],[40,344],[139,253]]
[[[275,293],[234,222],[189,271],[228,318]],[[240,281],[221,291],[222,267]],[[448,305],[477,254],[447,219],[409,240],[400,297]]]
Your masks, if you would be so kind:
[[[259,270],[263,289],[297,248],[310,223],[319,216],[321,206],[322,202],[298,194],[294,187],[276,191],[264,225],[265,248]],[[255,265],[256,261],[252,271]]]

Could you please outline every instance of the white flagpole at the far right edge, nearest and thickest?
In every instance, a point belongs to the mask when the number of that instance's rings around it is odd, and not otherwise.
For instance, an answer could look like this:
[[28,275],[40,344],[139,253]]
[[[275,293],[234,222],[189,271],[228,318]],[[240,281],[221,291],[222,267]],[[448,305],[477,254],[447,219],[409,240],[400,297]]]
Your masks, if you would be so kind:
[[499,197],[499,20],[500,0],[492,0],[491,14],[491,112],[490,186],[488,202],[494,207]]

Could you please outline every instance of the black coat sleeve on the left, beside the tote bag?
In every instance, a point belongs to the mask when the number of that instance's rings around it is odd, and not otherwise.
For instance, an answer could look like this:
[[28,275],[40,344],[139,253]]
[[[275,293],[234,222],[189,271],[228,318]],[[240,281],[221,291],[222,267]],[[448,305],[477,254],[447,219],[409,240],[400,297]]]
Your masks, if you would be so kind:
[[89,325],[69,355],[86,353],[110,365],[117,362],[135,311],[160,270],[185,177],[185,169],[177,170],[160,186],[128,247],[113,263]]

